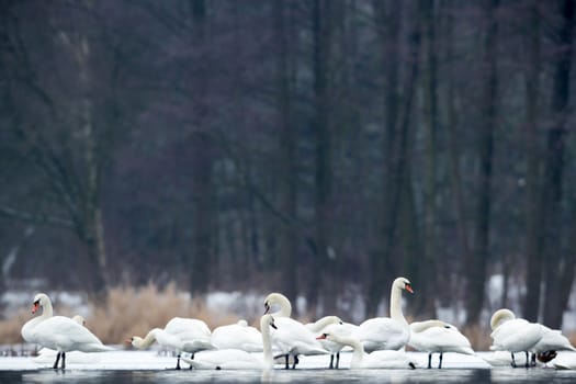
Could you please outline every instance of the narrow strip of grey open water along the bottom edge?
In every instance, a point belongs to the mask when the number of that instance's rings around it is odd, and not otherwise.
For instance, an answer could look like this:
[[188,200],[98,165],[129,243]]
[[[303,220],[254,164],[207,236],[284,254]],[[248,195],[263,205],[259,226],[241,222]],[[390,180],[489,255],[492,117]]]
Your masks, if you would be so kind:
[[258,371],[98,371],[42,369],[0,371],[0,383],[574,383],[575,371],[553,369],[447,370],[274,370]]

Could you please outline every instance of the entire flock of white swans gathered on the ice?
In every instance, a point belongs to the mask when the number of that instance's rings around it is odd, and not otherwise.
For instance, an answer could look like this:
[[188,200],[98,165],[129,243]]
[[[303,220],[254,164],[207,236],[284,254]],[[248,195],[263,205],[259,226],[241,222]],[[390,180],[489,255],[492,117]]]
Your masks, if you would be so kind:
[[[339,369],[340,352],[350,350],[347,368],[351,370],[431,369],[433,353],[439,354],[438,369],[441,369],[447,352],[475,354],[468,339],[451,324],[440,319],[409,324],[402,309],[404,291],[414,294],[410,281],[395,279],[391,287],[389,317],[369,318],[360,325],[345,323],[335,315],[303,324],[291,317],[290,300],[274,292],[264,298],[260,329],[240,319],[211,330],[203,320],[174,317],[163,328],[133,336],[126,343],[135,349],[147,349],[156,342],[173,351],[177,370],[181,369],[181,362],[195,370],[271,370],[279,363],[284,369],[296,369],[300,359],[306,355],[326,355],[326,366]],[[26,342],[43,348],[37,363],[55,358],[53,369],[64,370],[67,352],[114,350],[86,327],[81,316],[55,316],[52,301],[44,293],[34,296],[32,314],[37,313],[39,315],[21,329]],[[490,328],[490,350],[494,352],[490,358],[483,358],[490,365],[531,368],[552,361],[557,369],[576,369],[566,363],[566,359],[556,359],[557,364],[554,362],[557,351],[576,352],[560,330],[518,318],[507,308],[493,314]],[[428,364],[418,364],[414,355],[406,353],[406,348],[428,353]],[[518,361],[515,353],[522,352],[526,360]]]

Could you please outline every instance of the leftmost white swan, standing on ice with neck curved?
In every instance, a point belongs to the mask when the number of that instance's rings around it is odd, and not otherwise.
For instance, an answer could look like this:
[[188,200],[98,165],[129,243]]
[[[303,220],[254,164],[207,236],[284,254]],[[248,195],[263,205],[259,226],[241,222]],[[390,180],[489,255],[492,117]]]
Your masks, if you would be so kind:
[[52,316],[52,302],[46,294],[34,297],[34,310],[43,307],[42,319],[27,321],[22,327],[22,336],[26,341],[57,351],[54,369],[58,368],[61,358],[61,369],[66,368],[66,352],[104,352],[113,348],[106,347],[90,330],[64,316]]

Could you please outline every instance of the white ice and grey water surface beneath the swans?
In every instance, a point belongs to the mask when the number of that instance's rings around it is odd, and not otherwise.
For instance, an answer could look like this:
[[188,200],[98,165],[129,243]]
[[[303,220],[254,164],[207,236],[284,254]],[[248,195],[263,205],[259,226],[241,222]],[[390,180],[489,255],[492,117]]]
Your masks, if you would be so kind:
[[[408,352],[421,366],[427,354]],[[343,353],[340,370],[327,370],[327,357],[302,358],[296,370],[282,365],[262,371],[176,371],[176,358],[157,351],[114,351],[67,354],[66,371],[53,370],[50,355],[0,358],[0,383],[574,383],[576,371],[552,368],[492,368],[479,352],[476,357],[444,354],[443,369],[349,370],[350,354]],[[433,359],[433,364],[438,363]],[[183,366],[188,366],[183,364]]]

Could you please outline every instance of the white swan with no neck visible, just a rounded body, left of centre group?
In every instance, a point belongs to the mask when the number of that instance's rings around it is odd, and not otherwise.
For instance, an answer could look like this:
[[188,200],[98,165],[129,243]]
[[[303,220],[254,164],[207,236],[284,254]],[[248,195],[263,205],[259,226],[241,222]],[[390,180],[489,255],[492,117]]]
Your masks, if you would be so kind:
[[246,320],[214,328],[211,340],[217,349],[262,352],[262,335],[255,327],[248,326]]

